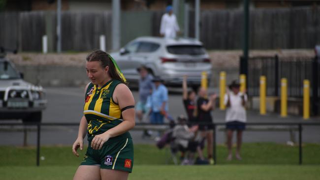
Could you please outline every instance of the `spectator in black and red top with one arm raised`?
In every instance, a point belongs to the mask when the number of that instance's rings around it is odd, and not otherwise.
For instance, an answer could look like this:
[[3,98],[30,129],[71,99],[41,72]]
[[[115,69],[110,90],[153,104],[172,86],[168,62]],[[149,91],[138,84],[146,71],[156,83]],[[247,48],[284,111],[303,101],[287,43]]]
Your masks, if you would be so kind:
[[194,123],[196,122],[196,117],[194,116],[194,111],[196,108],[195,106],[196,94],[193,90],[188,91],[187,76],[183,77],[182,89],[183,89],[183,104],[185,106],[185,109],[188,115],[188,122]]

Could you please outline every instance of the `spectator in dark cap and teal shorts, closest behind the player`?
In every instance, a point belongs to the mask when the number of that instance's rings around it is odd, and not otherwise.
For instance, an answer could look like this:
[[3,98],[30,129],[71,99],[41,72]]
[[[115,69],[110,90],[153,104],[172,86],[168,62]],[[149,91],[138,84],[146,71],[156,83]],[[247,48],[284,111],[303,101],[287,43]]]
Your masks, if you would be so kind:
[[[137,112],[137,119],[142,122],[143,117],[146,113],[149,113],[149,109],[146,106],[147,98],[149,95],[151,95],[152,88],[153,88],[153,82],[152,82],[152,75],[149,74],[148,68],[144,65],[139,67],[138,72],[140,74],[139,79],[139,101],[136,104],[136,112]],[[148,136],[150,137],[150,134],[147,130],[144,131],[143,137]]]

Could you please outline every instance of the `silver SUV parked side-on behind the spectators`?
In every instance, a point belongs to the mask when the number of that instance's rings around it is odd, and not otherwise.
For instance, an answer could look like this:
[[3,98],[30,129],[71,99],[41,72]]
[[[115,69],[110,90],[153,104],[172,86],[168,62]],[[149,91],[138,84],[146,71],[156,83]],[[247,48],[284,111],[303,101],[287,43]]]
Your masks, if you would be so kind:
[[[129,82],[137,82],[137,68],[147,66],[168,86],[181,86],[184,75],[189,85],[200,85],[201,72],[211,77],[211,61],[202,43],[196,39],[138,37],[119,52],[111,53]],[[210,81],[209,81],[210,82]]]

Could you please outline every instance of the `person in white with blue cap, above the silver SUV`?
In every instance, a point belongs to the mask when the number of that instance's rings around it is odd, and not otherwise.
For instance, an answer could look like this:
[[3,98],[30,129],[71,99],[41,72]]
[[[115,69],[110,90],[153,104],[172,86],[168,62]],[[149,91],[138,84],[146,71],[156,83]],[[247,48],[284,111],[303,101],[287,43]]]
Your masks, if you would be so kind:
[[176,38],[177,32],[180,31],[176,16],[172,13],[172,6],[165,8],[166,12],[162,15],[160,25],[160,35],[164,38]]

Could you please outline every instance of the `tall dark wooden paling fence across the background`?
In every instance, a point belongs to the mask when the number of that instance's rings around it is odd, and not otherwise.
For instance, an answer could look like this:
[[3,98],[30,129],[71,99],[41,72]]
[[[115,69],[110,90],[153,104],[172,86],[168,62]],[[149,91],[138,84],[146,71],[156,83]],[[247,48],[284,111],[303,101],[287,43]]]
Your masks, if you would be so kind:
[[[123,11],[123,16],[128,11]],[[139,13],[129,11],[132,13]],[[124,19],[131,30],[121,31],[121,37],[141,36],[138,27],[148,27],[143,35],[159,36],[160,20],[164,11],[148,11],[148,21],[139,22],[137,16]],[[140,19],[145,16],[142,14]],[[189,36],[194,37],[194,11],[190,11]],[[131,18],[131,20],[130,20]],[[147,18],[148,19],[148,18]],[[106,36],[106,47],[111,49],[112,12],[62,12],[62,50],[87,51],[98,48],[99,35]],[[134,23],[130,23],[134,22]],[[134,27],[133,27],[134,26]],[[48,35],[49,50],[55,50],[56,12],[0,13],[0,45],[22,51],[41,51],[41,36]],[[180,26],[182,29],[183,27]],[[145,28],[144,28],[145,29]],[[241,9],[205,10],[200,15],[200,40],[207,49],[241,49],[243,39]],[[250,49],[314,48],[320,43],[320,7],[295,7],[250,10]],[[125,34],[124,34],[125,33]],[[122,45],[129,40],[122,40]]]

